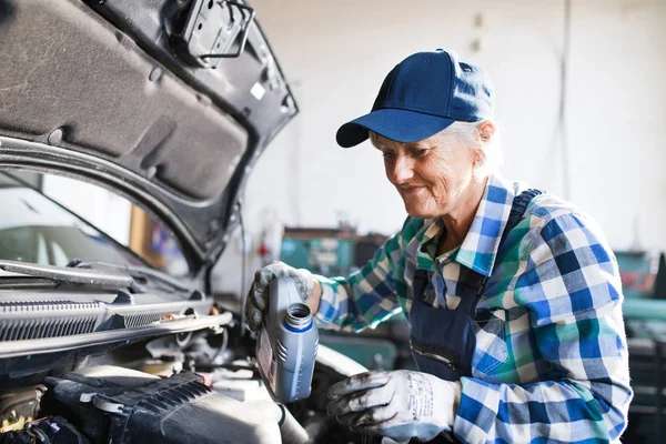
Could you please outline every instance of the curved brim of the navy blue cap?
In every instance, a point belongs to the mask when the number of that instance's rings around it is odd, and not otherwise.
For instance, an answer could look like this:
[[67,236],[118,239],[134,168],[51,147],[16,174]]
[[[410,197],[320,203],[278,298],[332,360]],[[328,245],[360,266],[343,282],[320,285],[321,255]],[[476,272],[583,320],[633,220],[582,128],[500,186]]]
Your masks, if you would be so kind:
[[448,128],[454,119],[422,114],[415,111],[382,109],[362,115],[340,127],[335,139],[342,148],[352,148],[367,139],[367,132],[401,143],[418,142]]

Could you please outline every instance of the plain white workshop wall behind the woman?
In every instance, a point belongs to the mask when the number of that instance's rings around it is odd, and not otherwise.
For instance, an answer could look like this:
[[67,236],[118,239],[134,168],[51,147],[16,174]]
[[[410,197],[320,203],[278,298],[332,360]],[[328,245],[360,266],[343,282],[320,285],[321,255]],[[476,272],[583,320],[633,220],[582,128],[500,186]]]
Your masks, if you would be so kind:
[[[405,213],[364,143],[335,144],[341,123],[370,110],[394,64],[412,52],[454,49],[495,82],[504,175],[564,194],[553,143],[564,1],[253,0],[293,85],[301,114],[268,149],[246,190],[245,219],[276,209],[287,224],[331,226],[336,212],[361,231],[391,233]],[[476,24],[481,14],[482,26]],[[573,0],[567,128],[569,199],[612,245],[666,248],[666,2]],[[481,50],[472,43],[481,39]]]

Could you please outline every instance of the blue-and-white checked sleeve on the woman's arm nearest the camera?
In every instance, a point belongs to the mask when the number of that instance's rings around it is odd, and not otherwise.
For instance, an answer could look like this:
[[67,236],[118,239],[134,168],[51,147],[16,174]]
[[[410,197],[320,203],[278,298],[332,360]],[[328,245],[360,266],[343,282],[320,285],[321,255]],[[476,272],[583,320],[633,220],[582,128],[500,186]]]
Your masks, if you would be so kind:
[[463,442],[609,442],[626,426],[633,393],[615,258],[584,215],[551,216],[532,219],[521,243],[528,259],[504,295],[528,310],[547,369],[528,384],[463,377],[454,424]]

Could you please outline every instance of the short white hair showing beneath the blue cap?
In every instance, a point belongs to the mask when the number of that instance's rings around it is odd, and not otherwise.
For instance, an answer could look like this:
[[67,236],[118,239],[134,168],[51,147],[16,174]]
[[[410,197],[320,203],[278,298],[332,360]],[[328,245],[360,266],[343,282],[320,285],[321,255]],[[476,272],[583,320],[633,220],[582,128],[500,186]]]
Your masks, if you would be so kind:
[[[480,169],[477,172],[482,173],[482,175],[486,175],[497,173],[500,171],[503,157],[500,129],[495,131],[491,140],[482,140],[481,133],[478,132],[478,127],[483,122],[485,121],[463,122],[456,120],[442,132],[445,134],[456,134],[461,143],[470,147],[471,149],[476,149],[483,152],[484,161],[477,167],[477,169]],[[370,131],[370,141],[374,147],[377,147],[377,134],[373,131]]]

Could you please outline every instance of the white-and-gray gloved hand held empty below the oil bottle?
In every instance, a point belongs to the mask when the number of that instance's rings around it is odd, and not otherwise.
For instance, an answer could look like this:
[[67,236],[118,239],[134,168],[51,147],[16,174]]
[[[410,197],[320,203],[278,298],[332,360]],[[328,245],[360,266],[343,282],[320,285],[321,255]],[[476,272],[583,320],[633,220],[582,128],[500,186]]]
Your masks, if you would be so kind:
[[427,373],[369,372],[332,385],[326,411],[354,432],[431,441],[453,428],[461,393],[460,382]]

